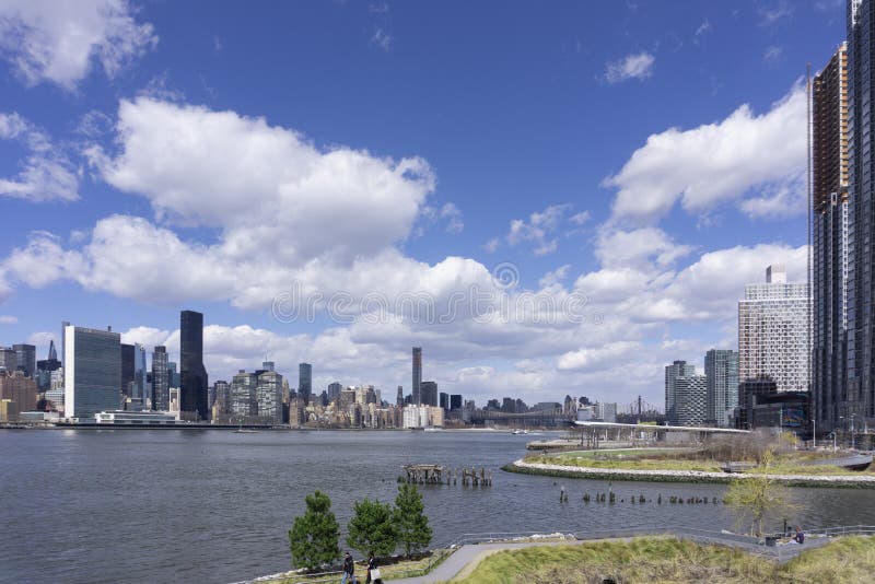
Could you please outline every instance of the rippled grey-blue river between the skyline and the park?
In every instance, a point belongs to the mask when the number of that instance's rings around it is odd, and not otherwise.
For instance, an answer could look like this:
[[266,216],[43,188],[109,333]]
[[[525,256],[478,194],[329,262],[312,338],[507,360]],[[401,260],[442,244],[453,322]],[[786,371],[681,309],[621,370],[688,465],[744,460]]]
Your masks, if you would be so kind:
[[[719,484],[615,482],[626,504],[584,504],[584,492],[605,491],[607,482],[502,471],[530,440],[506,432],[0,431],[0,581],[228,583],[288,570],[287,532],[305,494],[326,492],[342,532],[353,501],[395,499],[404,464],[492,471],[490,488],[422,488],[433,545],[486,532],[733,527],[723,505],[628,500],[721,499]],[[792,493],[802,507],[791,522],[806,528],[875,524],[875,491]]]

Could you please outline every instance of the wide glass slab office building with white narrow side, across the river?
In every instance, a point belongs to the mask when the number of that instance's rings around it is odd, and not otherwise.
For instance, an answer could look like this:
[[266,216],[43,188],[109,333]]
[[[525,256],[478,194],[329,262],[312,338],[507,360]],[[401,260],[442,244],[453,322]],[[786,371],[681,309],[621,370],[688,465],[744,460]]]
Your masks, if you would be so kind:
[[67,418],[92,422],[121,401],[121,337],[68,325],[63,331],[63,405]]

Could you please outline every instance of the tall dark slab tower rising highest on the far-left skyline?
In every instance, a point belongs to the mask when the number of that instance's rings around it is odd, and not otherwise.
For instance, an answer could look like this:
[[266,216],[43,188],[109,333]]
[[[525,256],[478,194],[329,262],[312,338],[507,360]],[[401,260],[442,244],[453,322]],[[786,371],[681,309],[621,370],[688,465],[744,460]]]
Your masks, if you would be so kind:
[[209,420],[207,370],[203,367],[203,315],[183,311],[179,315],[179,412],[186,420]]

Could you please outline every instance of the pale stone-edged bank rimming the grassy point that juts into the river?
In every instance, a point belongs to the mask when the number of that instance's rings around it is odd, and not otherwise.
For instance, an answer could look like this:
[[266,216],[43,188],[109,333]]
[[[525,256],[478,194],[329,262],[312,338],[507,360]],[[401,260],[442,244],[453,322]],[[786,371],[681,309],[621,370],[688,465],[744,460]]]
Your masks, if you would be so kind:
[[628,480],[648,482],[709,482],[727,484],[734,479],[768,477],[788,487],[843,487],[854,489],[875,489],[875,475],[771,475],[739,474],[704,470],[655,470],[595,468],[584,466],[551,465],[529,463],[521,458],[501,467],[508,472],[523,475],[544,475],[573,479]]

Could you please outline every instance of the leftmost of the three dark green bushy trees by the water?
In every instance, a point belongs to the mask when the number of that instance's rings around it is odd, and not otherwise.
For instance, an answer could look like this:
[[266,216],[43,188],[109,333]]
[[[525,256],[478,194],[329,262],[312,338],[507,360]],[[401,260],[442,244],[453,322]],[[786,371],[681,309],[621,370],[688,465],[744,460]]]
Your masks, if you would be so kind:
[[331,513],[331,500],[327,494],[316,491],[305,501],[307,510],[294,518],[289,529],[289,550],[293,568],[314,570],[340,559],[340,527]]

